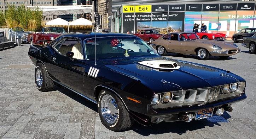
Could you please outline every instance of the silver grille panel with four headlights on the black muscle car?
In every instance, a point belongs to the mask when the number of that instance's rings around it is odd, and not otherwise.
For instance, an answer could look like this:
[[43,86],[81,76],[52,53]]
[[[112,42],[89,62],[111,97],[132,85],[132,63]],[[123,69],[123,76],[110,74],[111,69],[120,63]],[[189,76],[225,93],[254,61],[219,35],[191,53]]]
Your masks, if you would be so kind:
[[239,96],[244,93],[245,82],[223,84],[210,88],[171,91],[155,94],[152,98],[152,107],[162,109],[185,105],[203,105],[208,102]]

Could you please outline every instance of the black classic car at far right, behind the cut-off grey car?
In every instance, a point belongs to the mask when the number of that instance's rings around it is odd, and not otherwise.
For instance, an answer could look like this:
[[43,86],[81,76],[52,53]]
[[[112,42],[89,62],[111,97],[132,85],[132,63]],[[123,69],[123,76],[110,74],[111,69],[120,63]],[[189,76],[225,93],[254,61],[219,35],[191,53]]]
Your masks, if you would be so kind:
[[238,33],[232,35],[234,43],[243,42],[244,37],[252,37],[256,33],[256,28],[241,29]]

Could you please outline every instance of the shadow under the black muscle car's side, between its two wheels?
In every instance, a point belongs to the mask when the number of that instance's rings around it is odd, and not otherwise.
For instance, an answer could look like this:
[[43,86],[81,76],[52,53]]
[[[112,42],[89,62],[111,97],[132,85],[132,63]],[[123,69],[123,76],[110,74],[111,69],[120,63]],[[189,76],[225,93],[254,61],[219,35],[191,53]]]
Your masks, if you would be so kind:
[[94,110],[95,112],[98,112],[98,108],[95,103],[86,99],[85,97],[82,97],[82,96],[76,94],[75,92],[73,92],[67,88],[62,89],[58,86],[55,86],[54,90],[52,90],[52,91],[60,91],[60,93],[66,95],[66,96],[70,97],[71,99],[81,103],[82,105]]

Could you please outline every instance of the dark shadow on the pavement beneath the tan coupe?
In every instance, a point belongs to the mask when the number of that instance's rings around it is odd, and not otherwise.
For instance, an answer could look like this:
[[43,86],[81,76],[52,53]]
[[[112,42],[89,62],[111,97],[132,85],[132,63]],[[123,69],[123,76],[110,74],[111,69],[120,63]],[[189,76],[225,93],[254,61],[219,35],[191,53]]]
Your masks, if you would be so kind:
[[[173,57],[174,59],[178,59],[179,57],[183,57],[183,58],[191,58],[191,59],[198,59],[196,55],[183,55],[183,54],[180,54],[180,53],[168,53],[166,56],[171,56]],[[177,58],[176,58],[177,57]],[[219,60],[219,61],[224,61],[224,60],[231,60],[231,59],[237,59],[237,58],[233,58],[233,57],[228,57],[228,58],[219,58],[219,57],[216,57],[216,56],[211,56],[209,60]],[[198,59],[199,60],[199,59]],[[200,61],[200,60],[199,60]]]

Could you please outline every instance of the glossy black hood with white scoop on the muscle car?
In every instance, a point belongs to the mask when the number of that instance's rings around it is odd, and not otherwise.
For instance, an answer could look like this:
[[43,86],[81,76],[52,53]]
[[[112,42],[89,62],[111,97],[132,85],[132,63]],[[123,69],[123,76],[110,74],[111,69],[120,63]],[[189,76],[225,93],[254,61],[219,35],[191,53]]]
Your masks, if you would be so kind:
[[[146,61],[146,65],[140,64],[142,61]],[[155,61],[155,63],[153,62]],[[161,64],[161,61],[165,62],[175,62],[180,66],[178,69],[162,69],[162,68],[152,68],[151,64]],[[229,82],[236,82],[237,80],[223,77],[221,74],[226,73],[224,70],[213,69],[209,67],[204,67],[202,65],[197,65],[194,63],[188,63],[185,61],[178,61],[175,59],[158,57],[158,58],[134,58],[129,57],[125,59],[116,59],[113,60],[104,60],[102,61],[106,64],[118,67],[145,78],[148,78],[152,81],[155,81],[158,84],[162,85],[171,85],[166,87],[169,91],[180,90],[180,88],[175,85],[179,85],[184,90],[191,88],[206,88],[212,86],[219,86]],[[147,64],[149,66],[147,66]],[[112,68],[114,68],[112,67]],[[115,70],[118,71],[118,68]],[[230,73],[231,74],[231,73]],[[233,75],[236,76],[236,75]],[[139,78],[139,76],[138,76]],[[167,81],[168,83],[163,83],[162,80]],[[175,87],[176,86],[176,87]]]

